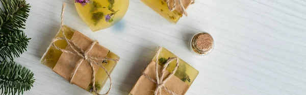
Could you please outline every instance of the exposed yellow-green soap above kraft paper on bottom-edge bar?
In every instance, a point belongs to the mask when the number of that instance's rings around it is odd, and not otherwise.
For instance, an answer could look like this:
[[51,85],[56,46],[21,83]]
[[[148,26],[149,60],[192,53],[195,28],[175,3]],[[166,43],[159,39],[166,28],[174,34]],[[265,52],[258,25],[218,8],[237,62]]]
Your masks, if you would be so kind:
[[[162,61],[167,60],[171,57],[177,57],[167,49],[162,47],[162,51],[160,51],[159,55],[159,65],[163,66]],[[152,61],[156,62],[156,56],[152,59]],[[176,60],[172,61],[168,67],[166,68],[170,73],[174,70],[176,65]],[[180,65],[179,68],[177,68],[174,76],[177,78],[180,78],[182,81],[184,81],[186,84],[191,85],[196,76],[199,74],[198,70],[190,66],[188,63],[180,59]]]

